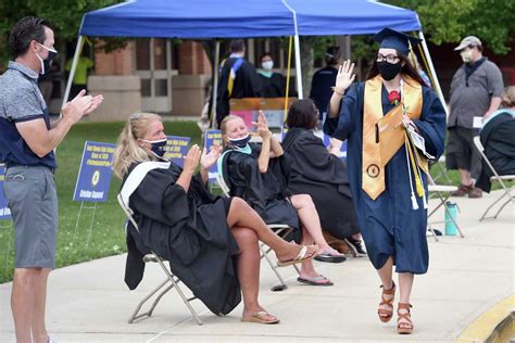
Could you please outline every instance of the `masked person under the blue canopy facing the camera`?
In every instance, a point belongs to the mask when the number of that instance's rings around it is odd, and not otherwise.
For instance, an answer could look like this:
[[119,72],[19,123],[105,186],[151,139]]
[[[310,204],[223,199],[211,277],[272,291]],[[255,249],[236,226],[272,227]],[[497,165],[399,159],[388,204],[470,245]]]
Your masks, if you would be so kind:
[[[263,98],[282,98],[286,96],[286,77],[279,73],[275,73],[274,60],[269,52],[265,52],[260,58],[261,71],[260,79],[263,87]],[[292,91],[292,81],[290,79],[290,91],[289,97],[296,97],[296,92]]]

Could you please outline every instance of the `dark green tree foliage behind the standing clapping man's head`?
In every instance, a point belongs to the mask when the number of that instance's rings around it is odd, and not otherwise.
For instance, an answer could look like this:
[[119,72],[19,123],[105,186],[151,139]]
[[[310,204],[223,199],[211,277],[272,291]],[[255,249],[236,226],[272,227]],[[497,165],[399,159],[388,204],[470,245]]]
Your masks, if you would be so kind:
[[[123,0],[1,0],[0,1],[0,66],[11,58],[8,37],[12,26],[22,17],[35,15],[47,20],[53,26],[56,48],[62,50],[66,42],[77,38],[84,13],[101,9]],[[121,40],[110,40],[123,45]]]

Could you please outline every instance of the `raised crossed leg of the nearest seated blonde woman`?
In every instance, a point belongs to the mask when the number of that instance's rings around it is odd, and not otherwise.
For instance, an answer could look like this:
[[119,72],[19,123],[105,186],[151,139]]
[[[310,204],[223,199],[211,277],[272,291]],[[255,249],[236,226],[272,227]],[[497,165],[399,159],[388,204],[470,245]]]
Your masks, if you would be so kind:
[[[260,241],[272,247],[279,261],[292,259],[299,253],[300,246],[298,244],[286,242],[275,234],[260,215],[240,198],[233,198],[230,202],[227,225],[229,228],[243,227],[253,230]],[[306,254],[311,256],[315,252],[315,247],[309,247]]]

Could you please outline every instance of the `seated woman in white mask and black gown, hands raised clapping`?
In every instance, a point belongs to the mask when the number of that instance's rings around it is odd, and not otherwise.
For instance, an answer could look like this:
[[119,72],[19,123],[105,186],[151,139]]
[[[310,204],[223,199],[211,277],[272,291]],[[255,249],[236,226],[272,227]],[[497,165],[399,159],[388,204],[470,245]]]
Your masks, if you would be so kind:
[[[266,224],[287,224],[302,229],[302,243],[315,242],[322,261],[343,262],[343,255],[324,239],[310,195],[289,193],[286,182],[288,156],[282,154],[280,143],[272,137],[263,113],[254,125],[263,140],[261,145],[248,144],[249,130],[240,117],[229,115],[222,120],[226,149],[218,161],[218,172],[222,170],[230,194],[244,199]],[[312,285],[332,284],[315,271],[311,262],[302,264],[298,281]]]

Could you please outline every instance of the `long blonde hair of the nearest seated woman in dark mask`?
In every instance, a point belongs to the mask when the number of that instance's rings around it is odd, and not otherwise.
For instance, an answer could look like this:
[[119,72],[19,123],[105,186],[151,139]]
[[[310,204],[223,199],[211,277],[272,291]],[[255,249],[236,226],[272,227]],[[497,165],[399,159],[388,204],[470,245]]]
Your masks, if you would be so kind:
[[136,113],[125,123],[114,152],[113,170],[118,178],[123,179],[125,177],[133,163],[155,160],[137,142],[138,138],[145,137],[152,120],[161,122],[162,119],[160,115],[154,113]]

